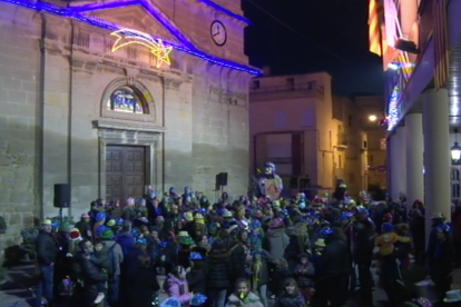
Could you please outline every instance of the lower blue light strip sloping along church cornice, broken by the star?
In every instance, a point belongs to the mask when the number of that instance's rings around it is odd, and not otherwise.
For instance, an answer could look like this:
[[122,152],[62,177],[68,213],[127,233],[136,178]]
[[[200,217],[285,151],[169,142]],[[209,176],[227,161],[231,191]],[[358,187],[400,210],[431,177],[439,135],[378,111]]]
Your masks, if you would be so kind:
[[[47,12],[50,12],[50,13],[53,13],[53,14],[72,18],[72,19],[82,21],[85,23],[88,23],[88,24],[91,24],[91,26],[95,26],[95,27],[98,27],[98,28],[107,29],[107,30],[110,30],[110,31],[125,29],[125,27],[119,27],[119,26],[117,26],[115,23],[111,23],[111,22],[108,22],[104,19],[97,18],[97,17],[84,16],[82,13],[78,13],[78,12],[69,10],[67,8],[57,7],[57,6],[47,3],[47,2],[36,2],[36,1],[30,1],[30,0],[0,0],[0,1],[17,4],[17,6],[21,6],[21,7],[32,9],[32,10],[36,10],[36,11],[47,11]],[[141,1],[144,1],[144,0],[141,0]],[[155,37],[153,37],[153,38],[155,38]],[[160,38],[158,38],[158,39],[160,39]],[[192,56],[202,58],[206,61],[209,61],[209,62],[213,62],[213,63],[216,63],[216,65],[219,65],[219,66],[227,67],[227,68],[235,69],[235,70],[239,70],[239,71],[244,71],[244,72],[247,72],[247,73],[251,73],[251,75],[261,75],[261,71],[253,68],[253,67],[243,66],[243,65],[235,63],[233,61],[219,59],[219,58],[209,56],[205,52],[202,52],[202,51],[197,50],[196,48],[189,48],[188,46],[180,46],[180,44],[177,44],[175,42],[170,42],[170,41],[166,41],[166,40],[164,40],[164,42],[166,42],[166,44],[171,46],[176,50],[187,52]]]

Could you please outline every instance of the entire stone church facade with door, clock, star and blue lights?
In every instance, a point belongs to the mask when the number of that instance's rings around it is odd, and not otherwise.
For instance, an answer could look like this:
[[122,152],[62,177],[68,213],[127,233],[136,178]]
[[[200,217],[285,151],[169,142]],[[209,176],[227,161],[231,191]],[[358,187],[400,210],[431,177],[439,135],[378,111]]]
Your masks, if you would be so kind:
[[0,211],[9,234],[96,198],[248,185],[239,0],[0,0]]

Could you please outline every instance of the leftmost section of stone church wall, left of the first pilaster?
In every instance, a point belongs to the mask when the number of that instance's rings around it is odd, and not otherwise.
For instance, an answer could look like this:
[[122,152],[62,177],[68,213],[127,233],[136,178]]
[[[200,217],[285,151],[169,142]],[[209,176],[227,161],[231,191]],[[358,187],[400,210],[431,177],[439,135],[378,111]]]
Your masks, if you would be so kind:
[[0,252],[20,240],[23,225],[33,225],[40,208],[40,24],[33,16],[0,3],[0,216],[8,225]]

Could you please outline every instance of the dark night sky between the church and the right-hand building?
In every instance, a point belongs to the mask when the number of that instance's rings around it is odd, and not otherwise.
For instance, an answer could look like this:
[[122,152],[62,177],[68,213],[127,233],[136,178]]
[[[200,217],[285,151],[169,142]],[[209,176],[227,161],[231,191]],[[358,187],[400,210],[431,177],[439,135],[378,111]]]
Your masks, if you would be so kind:
[[381,59],[367,51],[367,0],[242,0],[245,49],[273,75],[328,71],[337,95],[382,95]]

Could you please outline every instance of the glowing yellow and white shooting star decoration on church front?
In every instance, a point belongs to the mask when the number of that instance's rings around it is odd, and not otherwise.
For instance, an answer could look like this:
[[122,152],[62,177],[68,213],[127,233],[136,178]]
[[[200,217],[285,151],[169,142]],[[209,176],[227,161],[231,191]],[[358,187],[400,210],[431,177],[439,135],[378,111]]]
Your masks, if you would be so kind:
[[112,44],[112,52],[122,47],[138,43],[149,48],[150,52],[157,58],[157,68],[160,68],[161,63],[166,63],[168,66],[171,65],[169,53],[171,52],[173,47],[166,47],[164,41],[160,39],[156,40],[147,33],[130,29],[117,30],[110,34],[117,38]]

